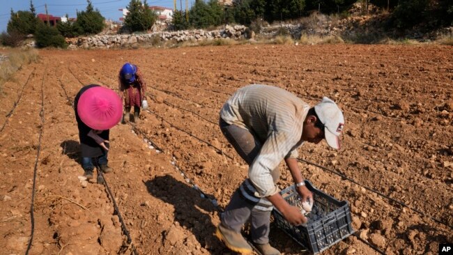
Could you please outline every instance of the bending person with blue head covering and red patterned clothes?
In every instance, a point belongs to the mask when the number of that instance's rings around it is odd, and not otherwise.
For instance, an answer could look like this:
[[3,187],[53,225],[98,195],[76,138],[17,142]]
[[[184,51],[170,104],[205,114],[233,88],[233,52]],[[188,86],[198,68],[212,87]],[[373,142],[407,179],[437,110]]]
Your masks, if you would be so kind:
[[[146,82],[137,65],[125,63],[118,75],[121,98],[124,98],[123,123],[139,121],[140,107],[148,108],[146,100]],[[130,110],[134,107],[134,115],[131,118]]]

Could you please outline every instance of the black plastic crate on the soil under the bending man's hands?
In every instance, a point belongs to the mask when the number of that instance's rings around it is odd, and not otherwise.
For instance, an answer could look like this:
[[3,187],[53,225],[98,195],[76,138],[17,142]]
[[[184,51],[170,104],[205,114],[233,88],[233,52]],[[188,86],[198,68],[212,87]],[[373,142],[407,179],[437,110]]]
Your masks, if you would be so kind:
[[[314,219],[309,219],[304,226],[293,226],[286,222],[282,213],[277,209],[272,210],[272,215],[274,215],[274,223],[279,229],[286,232],[305,249],[309,249],[313,254],[318,254],[354,233],[351,225],[351,211],[347,201],[338,201],[313,187],[308,180],[305,180],[305,185],[313,193],[314,210],[316,208],[323,212],[322,217],[319,219],[313,217]],[[301,207],[300,196],[294,185],[282,190],[280,194],[292,206]]]

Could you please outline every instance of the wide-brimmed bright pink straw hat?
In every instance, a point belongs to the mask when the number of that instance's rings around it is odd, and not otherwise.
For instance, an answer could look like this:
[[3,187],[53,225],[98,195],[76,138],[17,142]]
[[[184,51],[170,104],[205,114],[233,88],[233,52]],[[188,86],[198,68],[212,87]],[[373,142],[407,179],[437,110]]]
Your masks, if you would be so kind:
[[82,93],[77,114],[93,130],[109,130],[121,120],[123,103],[112,89],[96,86]]

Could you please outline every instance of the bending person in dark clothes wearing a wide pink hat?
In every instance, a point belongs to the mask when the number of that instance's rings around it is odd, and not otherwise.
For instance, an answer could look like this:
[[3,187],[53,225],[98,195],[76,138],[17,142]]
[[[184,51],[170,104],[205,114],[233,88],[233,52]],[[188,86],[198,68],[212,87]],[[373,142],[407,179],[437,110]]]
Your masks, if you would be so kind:
[[82,168],[87,179],[93,178],[93,162],[103,173],[112,171],[107,165],[109,151],[109,129],[121,120],[123,104],[112,89],[91,84],[84,86],[75,96],[75,118],[79,127]]

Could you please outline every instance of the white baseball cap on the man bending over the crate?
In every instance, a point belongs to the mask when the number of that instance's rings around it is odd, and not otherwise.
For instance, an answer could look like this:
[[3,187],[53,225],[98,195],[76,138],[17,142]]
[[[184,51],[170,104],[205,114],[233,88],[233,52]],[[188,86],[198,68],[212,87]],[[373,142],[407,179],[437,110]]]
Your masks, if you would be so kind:
[[323,97],[318,105],[314,106],[319,121],[324,125],[325,141],[335,149],[340,148],[339,135],[343,131],[344,117],[337,104],[328,97]]

